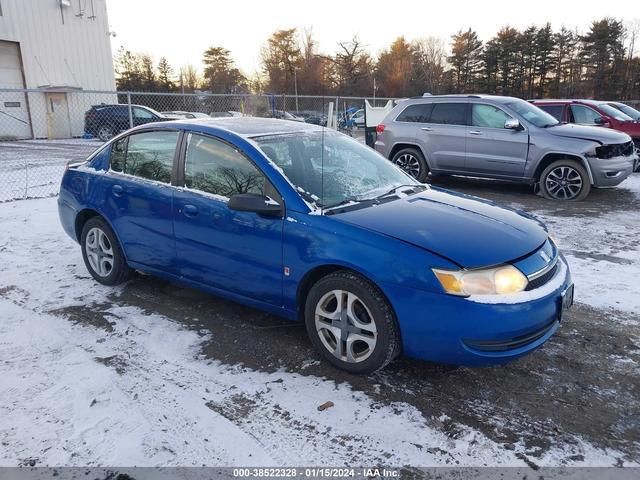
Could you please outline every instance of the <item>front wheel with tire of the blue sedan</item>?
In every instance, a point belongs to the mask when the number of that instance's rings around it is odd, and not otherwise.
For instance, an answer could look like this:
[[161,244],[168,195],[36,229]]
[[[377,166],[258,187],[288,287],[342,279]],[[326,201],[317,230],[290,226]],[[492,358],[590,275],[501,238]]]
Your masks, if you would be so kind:
[[372,373],[400,353],[395,315],[382,292],[341,270],[319,280],[305,303],[311,342],[329,363],[350,373]]

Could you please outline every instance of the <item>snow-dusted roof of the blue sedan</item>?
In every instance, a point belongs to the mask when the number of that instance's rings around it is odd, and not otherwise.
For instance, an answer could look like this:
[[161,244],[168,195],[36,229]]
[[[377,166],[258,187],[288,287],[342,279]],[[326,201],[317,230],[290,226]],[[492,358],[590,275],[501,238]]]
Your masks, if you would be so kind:
[[293,122],[290,120],[278,120],[275,118],[259,118],[259,117],[211,117],[211,118],[192,118],[185,120],[176,120],[162,122],[160,124],[146,124],[150,127],[178,127],[185,126],[198,127],[199,130],[206,131],[207,127],[211,127],[212,131],[223,129],[231,133],[235,133],[241,137],[253,138],[266,135],[283,135],[292,133],[304,133],[322,131],[324,127],[313,125],[311,123]]

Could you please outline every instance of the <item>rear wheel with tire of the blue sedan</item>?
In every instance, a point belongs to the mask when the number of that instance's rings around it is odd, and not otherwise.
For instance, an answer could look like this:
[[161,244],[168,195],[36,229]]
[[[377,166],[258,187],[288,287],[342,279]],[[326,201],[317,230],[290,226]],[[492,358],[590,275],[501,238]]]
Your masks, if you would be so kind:
[[129,268],[115,233],[101,217],[92,217],[82,227],[82,258],[91,276],[103,285],[118,285],[129,279]]

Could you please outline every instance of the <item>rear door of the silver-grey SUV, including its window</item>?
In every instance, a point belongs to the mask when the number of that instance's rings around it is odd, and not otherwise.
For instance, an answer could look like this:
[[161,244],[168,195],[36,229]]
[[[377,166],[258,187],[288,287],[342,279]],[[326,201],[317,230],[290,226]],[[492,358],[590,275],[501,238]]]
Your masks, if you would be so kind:
[[432,169],[464,170],[468,106],[466,100],[433,103],[427,122],[417,130],[416,140]]

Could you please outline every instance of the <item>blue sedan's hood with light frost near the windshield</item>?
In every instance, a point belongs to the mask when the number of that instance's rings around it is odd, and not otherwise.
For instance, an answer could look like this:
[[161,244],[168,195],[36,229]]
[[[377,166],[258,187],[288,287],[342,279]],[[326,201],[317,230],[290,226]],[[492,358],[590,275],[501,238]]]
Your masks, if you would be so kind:
[[542,224],[524,213],[433,188],[334,219],[424,248],[464,268],[515,260],[548,238]]

